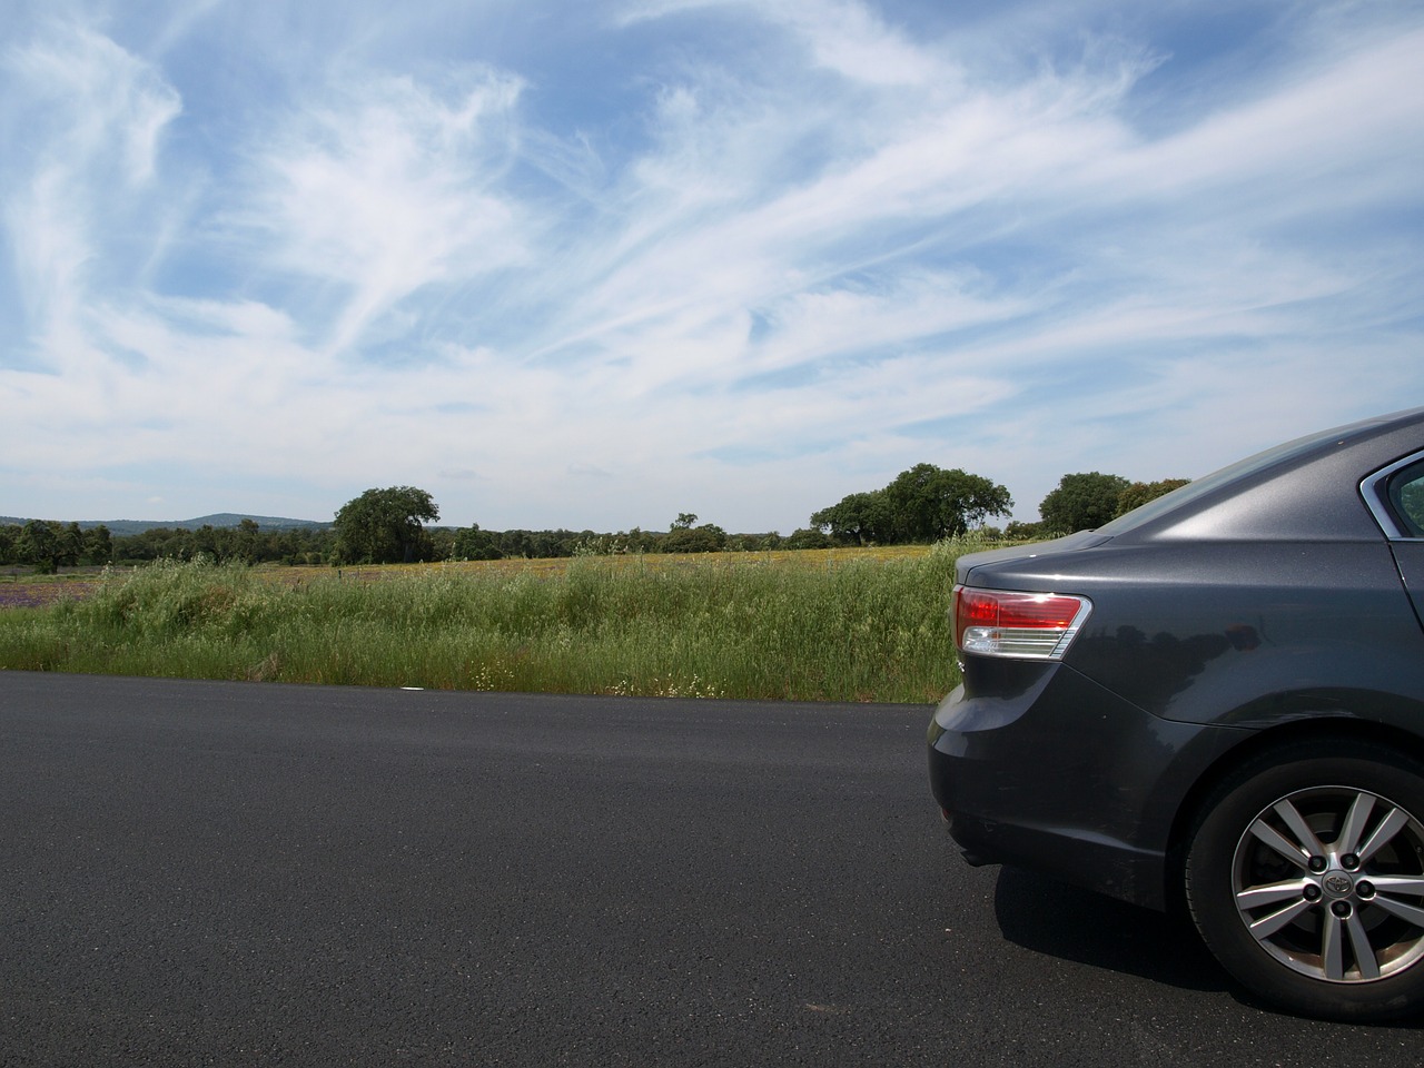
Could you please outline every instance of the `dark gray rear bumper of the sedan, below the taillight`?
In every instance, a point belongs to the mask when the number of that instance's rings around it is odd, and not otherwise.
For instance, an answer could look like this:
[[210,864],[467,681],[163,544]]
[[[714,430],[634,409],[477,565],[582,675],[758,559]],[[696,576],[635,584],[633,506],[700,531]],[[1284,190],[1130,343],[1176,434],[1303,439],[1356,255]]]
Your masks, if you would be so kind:
[[930,723],[930,785],[967,859],[1166,907],[1178,802],[1235,739],[1159,719],[1062,664],[990,671],[1007,696],[960,686]]

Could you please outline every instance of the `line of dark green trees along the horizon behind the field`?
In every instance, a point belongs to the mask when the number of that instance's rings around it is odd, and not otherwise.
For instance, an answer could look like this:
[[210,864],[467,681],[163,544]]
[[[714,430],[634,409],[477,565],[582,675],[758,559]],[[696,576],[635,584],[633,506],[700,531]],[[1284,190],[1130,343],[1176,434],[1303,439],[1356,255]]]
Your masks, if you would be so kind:
[[572,557],[615,553],[729,553],[839,545],[934,543],[978,530],[988,537],[1040,540],[1101,527],[1139,504],[1185,486],[1186,478],[1132,483],[1116,474],[1065,474],[1040,504],[1038,523],[988,520],[1011,514],[1008,490],[964,471],[921,463],[879,490],[853,493],[812,513],[809,525],[783,537],[729,534],[693,513],[679,513],[665,531],[638,527],[615,534],[591,530],[481,530],[426,525],[440,518],[431,496],[412,486],[366,490],[336,513],[329,527],[262,527],[245,518],[236,527],[154,527],[112,535],[103,524],[30,520],[0,524],[0,565],[60,567],[137,564],[159,558],[246,564],[365,564],[506,557]]

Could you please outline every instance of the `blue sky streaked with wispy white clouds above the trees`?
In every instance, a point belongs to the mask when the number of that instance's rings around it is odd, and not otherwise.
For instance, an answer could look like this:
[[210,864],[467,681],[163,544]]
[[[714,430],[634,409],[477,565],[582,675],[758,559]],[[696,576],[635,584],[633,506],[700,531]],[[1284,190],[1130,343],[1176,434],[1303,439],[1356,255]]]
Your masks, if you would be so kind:
[[0,514],[806,525],[1424,403],[1424,4],[9,0]]

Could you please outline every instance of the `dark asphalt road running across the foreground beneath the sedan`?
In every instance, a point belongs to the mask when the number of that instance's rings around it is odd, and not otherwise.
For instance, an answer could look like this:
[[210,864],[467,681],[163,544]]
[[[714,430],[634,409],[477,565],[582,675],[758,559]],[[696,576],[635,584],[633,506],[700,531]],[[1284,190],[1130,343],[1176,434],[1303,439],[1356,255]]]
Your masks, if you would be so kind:
[[928,709],[0,672],[0,1065],[1418,1065],[964,866]]

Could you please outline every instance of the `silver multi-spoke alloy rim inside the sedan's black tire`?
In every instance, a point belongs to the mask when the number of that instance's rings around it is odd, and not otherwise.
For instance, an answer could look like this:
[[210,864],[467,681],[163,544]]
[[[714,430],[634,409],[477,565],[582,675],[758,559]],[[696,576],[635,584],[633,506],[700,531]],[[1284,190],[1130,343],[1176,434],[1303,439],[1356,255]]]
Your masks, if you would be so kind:
[[1232,891],[1256,944],[1293,971],[1396,975],[1424,957],[1424,824],[1370,790],[1296,790],[1240,836]]

